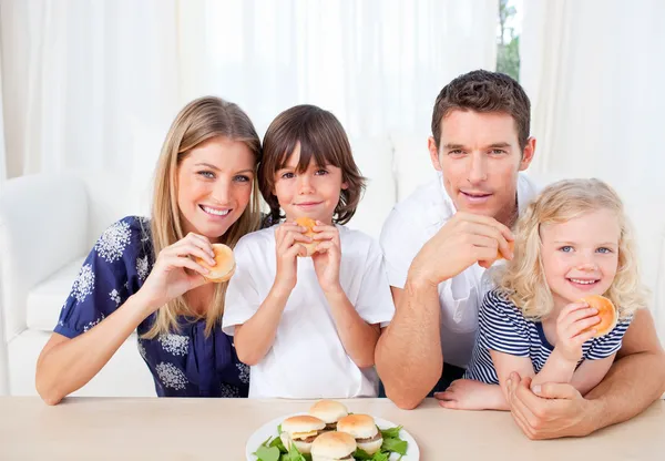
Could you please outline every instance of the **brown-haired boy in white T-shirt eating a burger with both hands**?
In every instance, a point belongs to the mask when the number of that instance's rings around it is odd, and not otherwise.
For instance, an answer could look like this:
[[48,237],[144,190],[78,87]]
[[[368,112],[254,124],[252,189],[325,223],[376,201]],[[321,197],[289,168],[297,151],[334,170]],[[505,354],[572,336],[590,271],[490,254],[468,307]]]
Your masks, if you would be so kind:
[[[279,114],[258,181],[273,227],[235,247],[223,322],[250,366],[249,397],[376,397],[375,346],[395,306],[379,244],[344,226],[365,178],[335,115],[313,105]],[[296,224],[304,217],[314,237]]]

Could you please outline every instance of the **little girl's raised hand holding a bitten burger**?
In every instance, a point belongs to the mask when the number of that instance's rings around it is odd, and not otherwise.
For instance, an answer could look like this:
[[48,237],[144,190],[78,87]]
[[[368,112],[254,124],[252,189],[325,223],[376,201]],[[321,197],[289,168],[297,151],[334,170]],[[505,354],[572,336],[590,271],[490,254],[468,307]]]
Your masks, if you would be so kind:
[[582,358],[582,345],[595,335],[591,328],[601,321],[597,309],[589,307],[584,301],[572,303],[565,306],[556,319],[556,346],[564,359],[577,362]]

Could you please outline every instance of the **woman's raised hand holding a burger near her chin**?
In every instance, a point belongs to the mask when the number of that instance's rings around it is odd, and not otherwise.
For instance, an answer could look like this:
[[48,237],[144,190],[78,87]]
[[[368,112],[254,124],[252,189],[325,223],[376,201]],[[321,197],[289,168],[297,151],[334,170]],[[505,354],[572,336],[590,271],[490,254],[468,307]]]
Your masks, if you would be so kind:
[[162,249],[150,276],[139,290],[146,297],[152,311],[166,303],[206,283],[208,269],[191,256],[200,257],[214,266],[215,253],[203,235],[190,233],[184,238]]

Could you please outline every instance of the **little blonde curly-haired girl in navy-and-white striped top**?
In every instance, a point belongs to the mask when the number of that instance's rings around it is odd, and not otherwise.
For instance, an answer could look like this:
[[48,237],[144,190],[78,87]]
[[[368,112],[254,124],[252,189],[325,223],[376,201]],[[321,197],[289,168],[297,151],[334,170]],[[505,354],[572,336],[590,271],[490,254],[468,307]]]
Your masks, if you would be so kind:
[[[605,183],[571,180],[545,188],[518,222],[514,258],[488,273],[497,288],[480,308],[471,363],[464,379],[439,395],[441,404],[508,410],[513,371],[531,377],[532,388],[593,389],[645,306],[635,253],[621,199]],[[607,297],[618,311],[604,336],[595,337],[597,310],[580,301],[589,295]]]

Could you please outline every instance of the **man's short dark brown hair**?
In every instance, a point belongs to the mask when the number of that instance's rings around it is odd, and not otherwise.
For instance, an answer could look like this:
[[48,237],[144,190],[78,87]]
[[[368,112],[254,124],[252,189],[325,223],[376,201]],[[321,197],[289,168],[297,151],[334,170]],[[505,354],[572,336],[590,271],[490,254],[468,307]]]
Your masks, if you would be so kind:
[[531,103],[524,89],[512,78],[478,70],[443,86],[432,113],[432,136],[437,147],[441,142],[441,121],[454,110],[509,114],[515,121],[520,150],[524,151],[529,140]]

